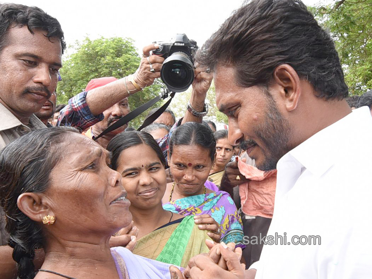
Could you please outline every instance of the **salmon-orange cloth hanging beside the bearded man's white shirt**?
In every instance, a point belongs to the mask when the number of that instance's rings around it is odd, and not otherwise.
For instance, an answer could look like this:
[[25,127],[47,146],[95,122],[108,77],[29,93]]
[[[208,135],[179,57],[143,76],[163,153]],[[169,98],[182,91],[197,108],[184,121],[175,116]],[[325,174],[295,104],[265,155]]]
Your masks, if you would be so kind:
[[246,215],[273,217],[276,170],[262,171],[238,158],[238,168],[248,182],[239,185],[241,209]]

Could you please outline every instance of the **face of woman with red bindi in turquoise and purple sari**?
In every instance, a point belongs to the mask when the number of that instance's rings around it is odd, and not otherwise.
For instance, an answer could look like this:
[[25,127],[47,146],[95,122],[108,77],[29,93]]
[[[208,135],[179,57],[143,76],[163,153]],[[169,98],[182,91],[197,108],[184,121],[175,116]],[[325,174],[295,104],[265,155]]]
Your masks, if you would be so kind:
[[170,157],[170,171],[185,196],[199,194],[211,171],[209,150],[199,145],[176,145]]

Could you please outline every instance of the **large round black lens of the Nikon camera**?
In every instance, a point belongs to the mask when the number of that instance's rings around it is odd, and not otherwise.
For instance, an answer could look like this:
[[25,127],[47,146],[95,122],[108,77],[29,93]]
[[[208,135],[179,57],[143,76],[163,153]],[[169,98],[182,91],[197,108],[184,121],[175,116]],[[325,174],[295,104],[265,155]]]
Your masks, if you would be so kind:
[[194,66],[189,55],[183,51],[174,52],[164,61],[160,76],[169,90],[185,91],[194,80]]

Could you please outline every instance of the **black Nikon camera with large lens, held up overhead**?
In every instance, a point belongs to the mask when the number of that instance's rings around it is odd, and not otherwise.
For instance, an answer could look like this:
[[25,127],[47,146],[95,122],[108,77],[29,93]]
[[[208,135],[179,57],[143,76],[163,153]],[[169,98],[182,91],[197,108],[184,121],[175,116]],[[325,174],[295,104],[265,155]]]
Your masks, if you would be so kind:
[[194,80],[194,57],[198,46],[185,34],[177,34],[171,41],[154,42],[159,45],[153,55],[164,57],[161,80],[169,90],[183,92]]

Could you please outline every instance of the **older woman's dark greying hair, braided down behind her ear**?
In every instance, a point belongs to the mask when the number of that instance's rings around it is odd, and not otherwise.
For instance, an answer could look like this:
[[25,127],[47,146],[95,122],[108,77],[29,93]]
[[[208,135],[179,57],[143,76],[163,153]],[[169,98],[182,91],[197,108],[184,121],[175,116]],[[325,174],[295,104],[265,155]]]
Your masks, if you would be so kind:
[[45,128],[20,137],[0,151],[0,204],[6,214],[6,230],[18,277],[35,277],[35,249],[42,248],[41,226],[17,206],[17,198],[26,192],[44,192],[50,183],[49,174],[61,157],[58,148],[65,136],[76,129]]

